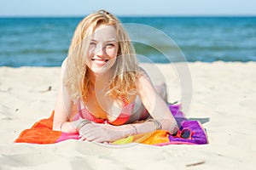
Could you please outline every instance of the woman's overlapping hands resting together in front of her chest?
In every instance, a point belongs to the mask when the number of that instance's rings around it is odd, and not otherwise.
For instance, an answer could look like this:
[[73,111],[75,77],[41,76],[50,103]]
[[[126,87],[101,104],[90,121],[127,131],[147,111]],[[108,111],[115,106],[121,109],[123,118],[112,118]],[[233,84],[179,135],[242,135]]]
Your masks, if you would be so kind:
[[112,142],[125,137],[125,131],[109,124],[91,122],[79,129],[80,140]]

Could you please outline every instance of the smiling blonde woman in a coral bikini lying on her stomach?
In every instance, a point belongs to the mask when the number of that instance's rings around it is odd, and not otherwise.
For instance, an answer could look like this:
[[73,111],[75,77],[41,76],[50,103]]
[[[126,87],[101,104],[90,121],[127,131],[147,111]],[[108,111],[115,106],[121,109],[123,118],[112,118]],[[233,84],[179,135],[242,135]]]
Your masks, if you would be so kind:
[[61,65],[53,130],[78,132],[81,140],[95,142],[172,131],[177,122],[165,94],[166,86],[154,88],[137,65],[119,20],[100,10],[79,23]]

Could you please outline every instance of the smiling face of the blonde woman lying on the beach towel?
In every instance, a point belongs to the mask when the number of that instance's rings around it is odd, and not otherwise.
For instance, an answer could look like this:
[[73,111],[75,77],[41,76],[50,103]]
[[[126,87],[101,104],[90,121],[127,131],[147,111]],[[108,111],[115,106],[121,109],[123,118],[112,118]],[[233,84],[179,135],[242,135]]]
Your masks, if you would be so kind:
[[108,71],[117,59],[119,43],[114,26],[101,25],[90,38],[87,56],[90,74],[98,75]]

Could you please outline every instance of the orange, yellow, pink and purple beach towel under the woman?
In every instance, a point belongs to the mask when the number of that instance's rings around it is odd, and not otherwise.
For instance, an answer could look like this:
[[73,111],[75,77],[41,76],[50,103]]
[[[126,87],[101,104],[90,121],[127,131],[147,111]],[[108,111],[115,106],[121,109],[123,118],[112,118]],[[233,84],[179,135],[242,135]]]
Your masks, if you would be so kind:
[[[181,111],[181,105],[169,105],[169,109],[176,118],[180,129],[186,128],[192,132],[189,139],[172,136],[171,132],[166,130],[157,130],[150,133],[141,133],[132,135],[124,139],[118,139],[111,144],[154,144],[158,146],[167,144],[207,144],[207,133],[202,127],[201,122],[189,120]],[[79,133],[64,133],[52,130],[54,111],[47,119],[36,122],[31,128],[25,129],[20,136],[15,139],[15,143],[32,144],[55,144],[67,139],[79,139]]]

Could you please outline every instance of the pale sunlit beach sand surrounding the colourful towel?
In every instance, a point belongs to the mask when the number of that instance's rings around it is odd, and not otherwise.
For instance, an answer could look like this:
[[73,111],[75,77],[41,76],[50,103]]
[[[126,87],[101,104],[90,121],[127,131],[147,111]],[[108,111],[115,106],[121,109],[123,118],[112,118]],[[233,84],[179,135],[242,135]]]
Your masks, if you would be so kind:
[[[155,68],[166,77],[169,101],[181,101],[173,65]],[[189,71],[193,98],[187,116],[201,121],[209,144],[113,148],[75,140],[14,144],[21,130],[54,109],[60,68],[0,67],[0,169],[254,169],[256,63],[195,62]]]

